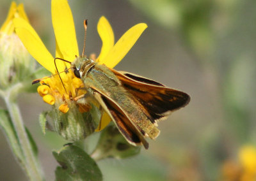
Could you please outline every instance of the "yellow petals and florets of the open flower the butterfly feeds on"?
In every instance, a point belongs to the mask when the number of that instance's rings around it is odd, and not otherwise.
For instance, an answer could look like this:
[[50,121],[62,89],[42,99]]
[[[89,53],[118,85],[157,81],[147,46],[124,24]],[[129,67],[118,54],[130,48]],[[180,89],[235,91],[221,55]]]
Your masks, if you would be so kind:
[[[56,37],[55,57],[72,62],[76,59],[76,55],[79,56],[79,51],[74,20],[67,0],[52,0],[51,11],[52,25]],[[54,58],[49,53],[42,40],[40,40],[33,27],[22,18],[15,18],[13,22],[15,24],[15,31],[28,52],[36,61],[44,66],[44,68],[48,69],[52,74],[55,74]],[[114,45],[115,40],[111,25],[105,17],[101,17],[97,25],[97,30],[102,40],[102,48],[99,57],[97,57],[95,61],[100,64],[105,64],[109,68],[113,68],[124,58],[127,52],[129,52],[146,28],[147,25],[143,23],[134,25]],[[70,64],[63,61],[56,61],[56,64],[59,71],[63,71],[70,66]],[[61,84],[60,78],[58,76],[52,76],[40,82],[42,85],[38,87],[38,93],[43,97],[46,103],[58,106],[59,110],[65,113],[69,112],[69,108],[74,107],[70,106],[70,104],[73,104],[72,99],[85,92],[76,92],[77,88],[84,86],[83,82],[81,82],[79,78],[76,78],[71,70],[68,70],[68,73],[61,73],[60,75],[67,92]],[[79,107],[81,112],[87,112],[88,109],[90,109],[79,103],[75,104]],[[104,113],[101,121],[101,129],[103,129],[109,121],[108,115]],[[99,129],[97,131],[99,131]]]

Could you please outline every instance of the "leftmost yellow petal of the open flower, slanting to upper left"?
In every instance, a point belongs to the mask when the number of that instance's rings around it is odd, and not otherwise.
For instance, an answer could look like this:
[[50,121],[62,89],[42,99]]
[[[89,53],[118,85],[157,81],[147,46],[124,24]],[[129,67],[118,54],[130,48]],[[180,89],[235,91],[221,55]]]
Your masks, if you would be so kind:
[[15,32],[27,48],[29,54],[44,66],[44,68],[51,71],[51,73],[55,73],[54,59],[33,27],[22,18],[14,18],[13,24],[15,26]]

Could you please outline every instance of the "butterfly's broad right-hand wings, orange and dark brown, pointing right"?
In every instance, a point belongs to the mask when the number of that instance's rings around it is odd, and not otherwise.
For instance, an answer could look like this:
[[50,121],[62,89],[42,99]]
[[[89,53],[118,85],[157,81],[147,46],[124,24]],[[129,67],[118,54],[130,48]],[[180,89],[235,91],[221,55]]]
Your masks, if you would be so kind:
[[125,89],[140,101],[154,120],[166,117],[169,113],[188,105],[190,101],[189,95],[185,92],[170,89],[154,80],[115,69],[111,71]]

